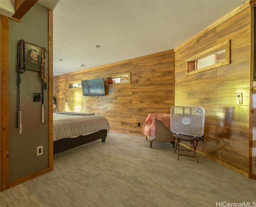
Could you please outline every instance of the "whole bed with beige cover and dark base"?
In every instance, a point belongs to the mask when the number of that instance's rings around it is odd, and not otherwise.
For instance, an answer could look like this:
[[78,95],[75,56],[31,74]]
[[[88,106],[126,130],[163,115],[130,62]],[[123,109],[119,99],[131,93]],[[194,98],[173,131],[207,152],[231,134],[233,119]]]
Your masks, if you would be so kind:
[[105,116],[76,113],[53,113],[53,153],[86,144],[98,139],[105,142],[110,125]]

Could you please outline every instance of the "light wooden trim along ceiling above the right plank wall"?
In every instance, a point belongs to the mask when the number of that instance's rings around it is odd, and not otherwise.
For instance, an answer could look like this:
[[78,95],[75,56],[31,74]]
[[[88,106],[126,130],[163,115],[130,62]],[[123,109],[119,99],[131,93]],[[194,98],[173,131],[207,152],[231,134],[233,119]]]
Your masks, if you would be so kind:
[[198,34],[194,35],[193,37],[191,37],[190,39],[188,39],[187,41],[185,41],[184,43],[180,44],[178,47],[174,48],[174,52],[176,52],[178,49],[180,49],[181,47],[184,47],[185,45],[187,45],[189,42],[197,39],[198,37],[201,37],[202,35],[204,35],[206,32],[212,30],[213,28],[215,28],[216,26],[222,24],[223,22],[225,22],[226,20],[228,20],[229,18],[231,18],[232,16],[235,16],[236,14],[238,14],[239,12],[241,12],[242,10],[248,8],[250,6],[250,0],[247,0],[246,2],[244,2],[244,4],[238,6],[238,8],[234,9],[232,12],[226,14],[224,17],[222,17],[221,19],[219,19],[217,22],[215,22],[214,24],[210,25],[208,28],[202,30],[201,32],[199,32]]

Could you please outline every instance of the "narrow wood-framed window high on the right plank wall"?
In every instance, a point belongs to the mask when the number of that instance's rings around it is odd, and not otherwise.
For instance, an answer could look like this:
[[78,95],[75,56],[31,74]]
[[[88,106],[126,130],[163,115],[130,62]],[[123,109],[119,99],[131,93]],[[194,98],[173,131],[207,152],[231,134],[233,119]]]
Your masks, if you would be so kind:
[[187,75],[230,64],[230,40],[186,60]]

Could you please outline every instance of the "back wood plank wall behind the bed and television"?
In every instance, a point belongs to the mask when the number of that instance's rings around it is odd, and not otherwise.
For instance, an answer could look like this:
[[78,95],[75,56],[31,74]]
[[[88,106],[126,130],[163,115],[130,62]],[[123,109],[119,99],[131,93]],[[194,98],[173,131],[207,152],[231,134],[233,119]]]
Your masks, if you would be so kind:
[[[104,115],[113,132],[143,136],[142,125],[149,113],[170,113],[174,98],[173,70],[172,49],[96,69],[56,76],[55,111]],[[106,86],[107,76],[128,72],[131,73],[131,84]],[[106,96],[101,100],[83,97],[81,88],[68,88],[69,83],[102,77],[105,79]],[[140,122],[140,127],[137,122]]]

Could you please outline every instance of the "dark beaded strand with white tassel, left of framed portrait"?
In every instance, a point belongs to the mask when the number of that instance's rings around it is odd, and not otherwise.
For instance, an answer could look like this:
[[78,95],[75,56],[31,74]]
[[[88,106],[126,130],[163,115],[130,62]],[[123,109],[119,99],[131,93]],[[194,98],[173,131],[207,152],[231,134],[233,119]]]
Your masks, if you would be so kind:
[[[23,47],[22,47],[23,46]],[[22,59],[23,55],[23,59]],[[22,68],[23,63],[23,68]],[[26,54],[25,54],[25,41],[21,39],[18,41],[18,111],[16,128],[20,128],[19,133],[22,131],[21,111],[20,111],[20,74],[26,72]]]

